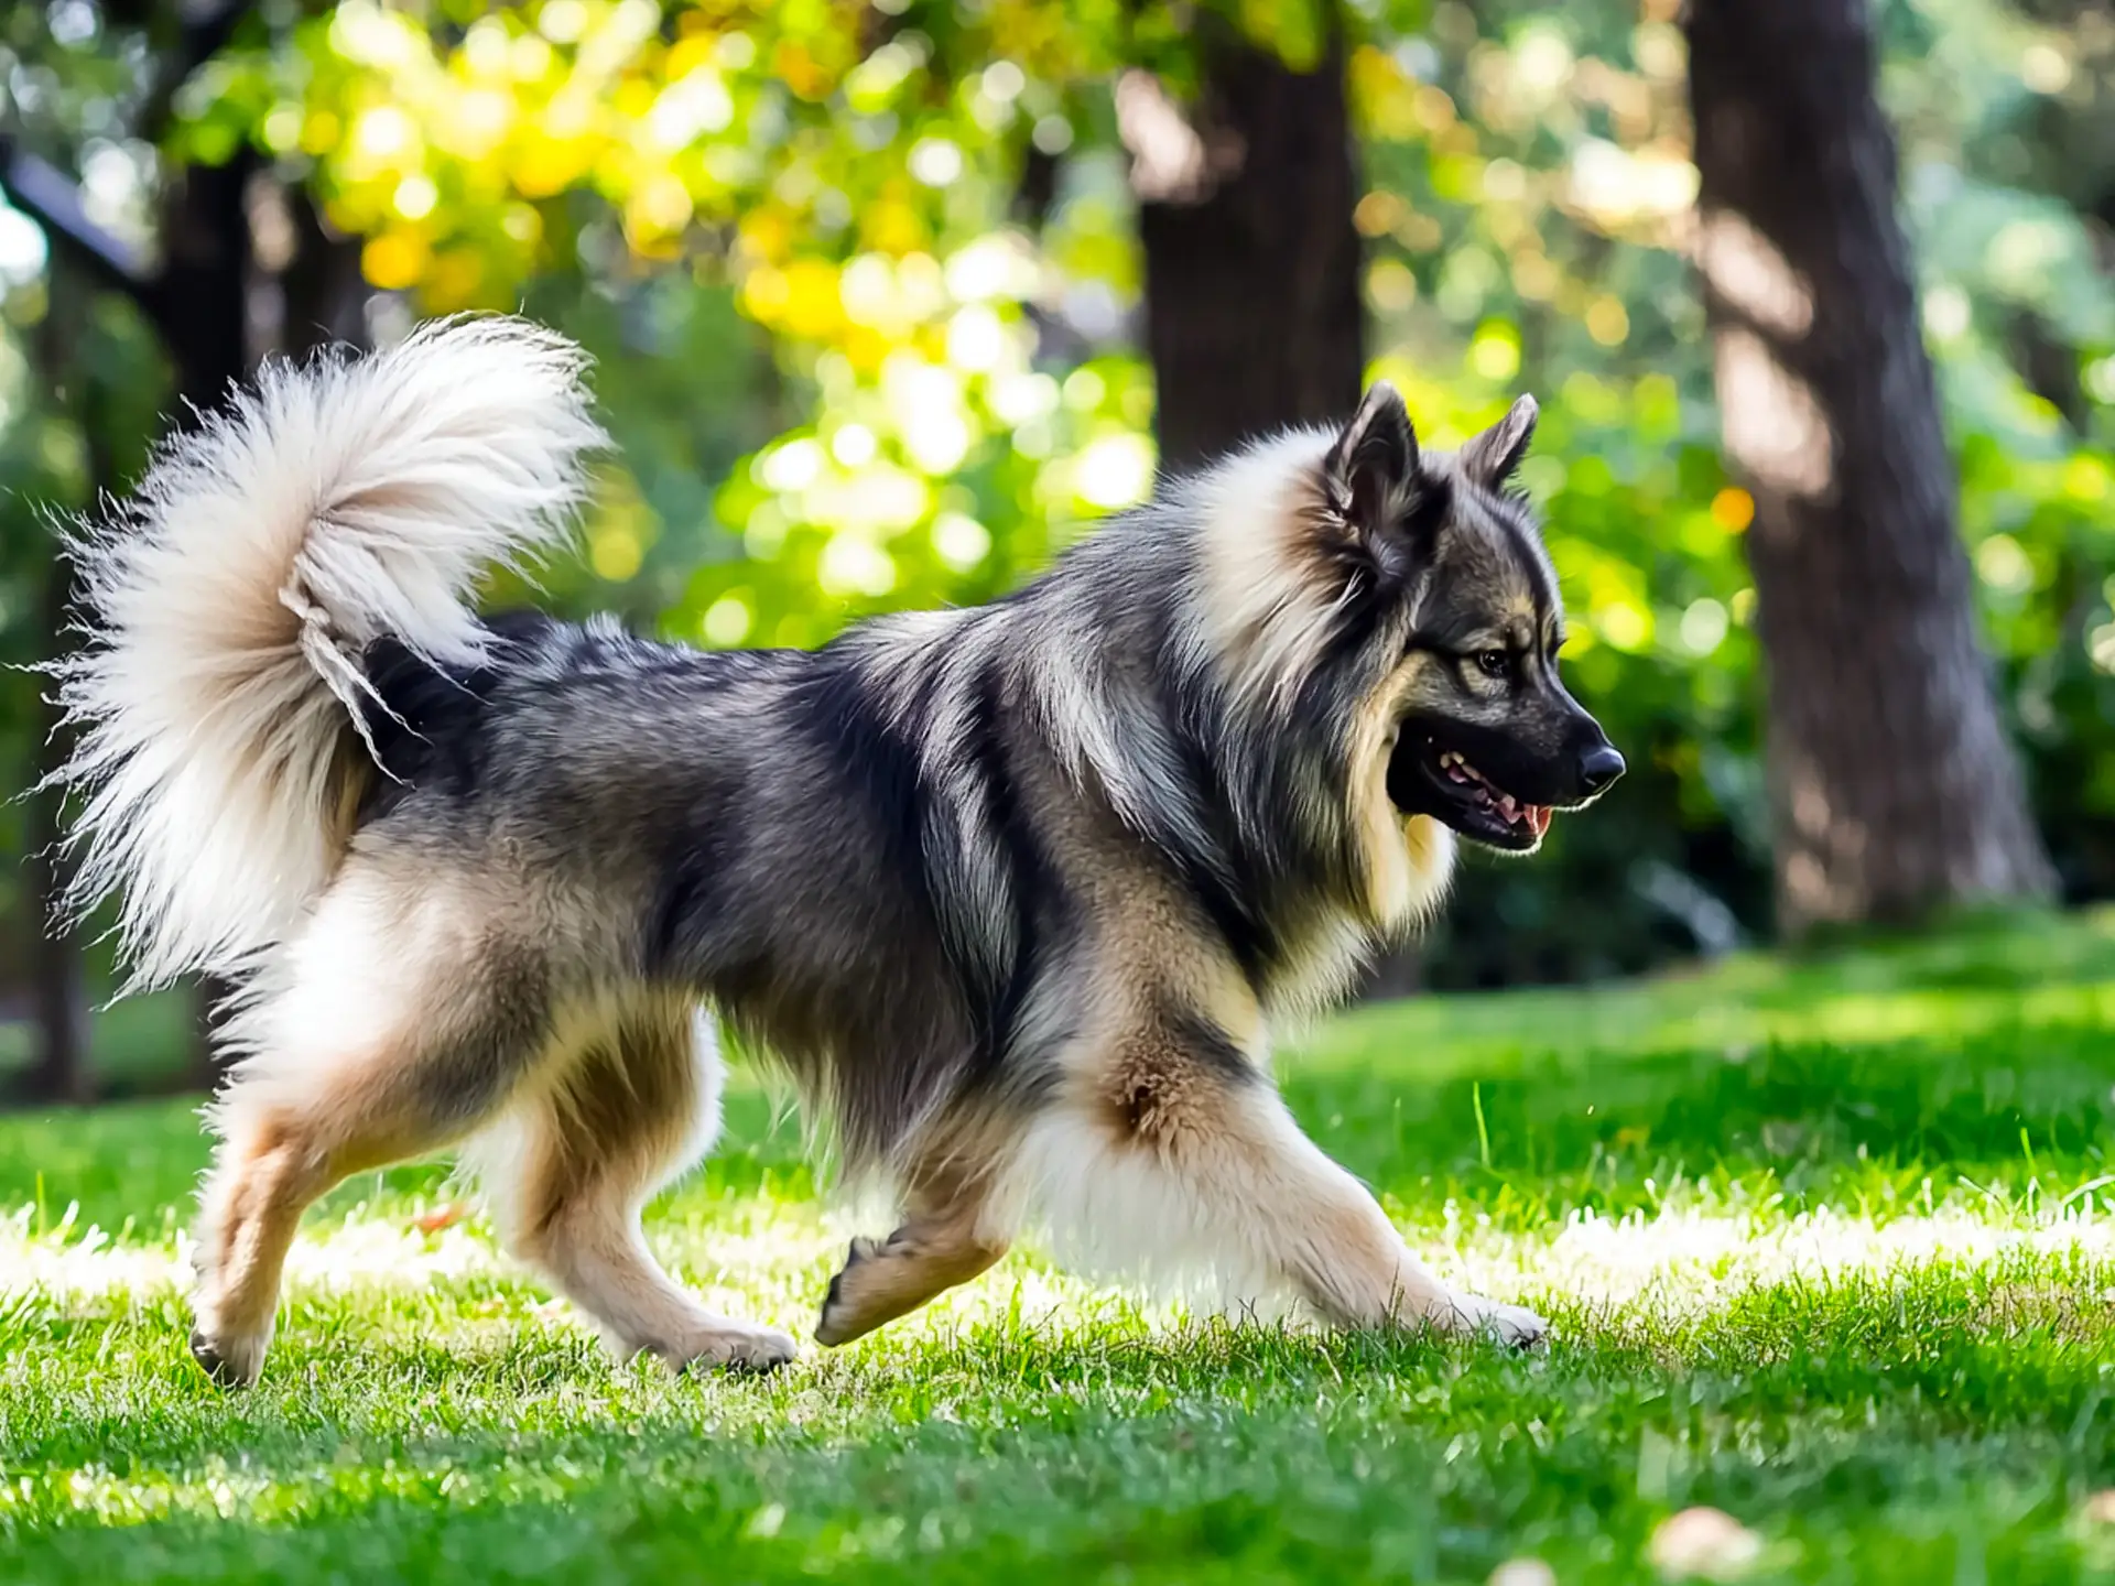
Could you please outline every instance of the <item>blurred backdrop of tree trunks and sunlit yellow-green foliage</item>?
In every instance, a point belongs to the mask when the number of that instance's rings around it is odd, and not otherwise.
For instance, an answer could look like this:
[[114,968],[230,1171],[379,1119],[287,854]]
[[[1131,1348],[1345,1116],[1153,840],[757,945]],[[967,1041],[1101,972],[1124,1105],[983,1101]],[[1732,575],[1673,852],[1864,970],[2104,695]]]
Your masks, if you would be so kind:
[[[544,584],[816,645],[1396,381],[1523,484],[1631,759],[1377,992],[2115,892],[2115,19],[2090,0],[17,0],[0,647],[264,357],[522,309],[620,444]],[[495,598],[510,592],[499,590]],[[0,1089],[199,1078],[49,928],[0,677]]]

